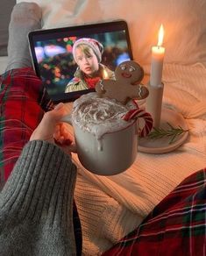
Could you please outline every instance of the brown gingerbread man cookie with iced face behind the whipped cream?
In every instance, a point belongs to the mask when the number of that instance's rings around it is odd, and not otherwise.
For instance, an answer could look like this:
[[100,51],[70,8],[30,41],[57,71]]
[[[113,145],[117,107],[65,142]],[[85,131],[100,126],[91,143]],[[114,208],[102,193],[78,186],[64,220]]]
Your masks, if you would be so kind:
[[115,70],[116,80],[104,79],[96,83],[96,93],[102,97],[117,99],[124,104],[130,99],[144,99],[149,95],[149,91],[139,84],[143,76],[143,68],[137,62],[124,61]]

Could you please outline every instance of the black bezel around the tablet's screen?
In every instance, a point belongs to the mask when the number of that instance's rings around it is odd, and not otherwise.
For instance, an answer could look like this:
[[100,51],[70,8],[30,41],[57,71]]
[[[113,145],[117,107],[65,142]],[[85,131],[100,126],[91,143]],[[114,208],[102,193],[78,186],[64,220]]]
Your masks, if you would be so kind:
[[[39,63],[35,53],[35,41],[37,41],[38,39],[42,39],[42,38],[56,39],[57,35],[60,34],[62,36],[64,35],[64,33],[65,33],[65,36],[69,34],[69,36],[72,37],[74,33],[75,36],[84,37],[84,35],[87,34],[88,32],[95,34],[100,32],[113,32],[113,31],[120,31],[120,30],[121,31],[124,30],[125,32],[125,38],[128,46],[128,53],[129,53],[130,59],[133,60],[129,29],[128,29],[127,23],[124,20],[115,20],[110,22],[87,24],[87,25],[67,26],[67,27],[29,32],[28,40],[29,40],[30,52],[32,55],[32,64],[36,72],[36,75],[38,75],[39,78],[41,77],[40,70],[39,70]],[[69,93],[59,93],[51,96],[51,98],[53,99],[54,103],[69,102],[69,101],[74,101],[79,96],[82,96],[83,94],[89,93],[94,90],[95,89],[83,89],[83,90],[78,90],[78,91],[69,92]]]

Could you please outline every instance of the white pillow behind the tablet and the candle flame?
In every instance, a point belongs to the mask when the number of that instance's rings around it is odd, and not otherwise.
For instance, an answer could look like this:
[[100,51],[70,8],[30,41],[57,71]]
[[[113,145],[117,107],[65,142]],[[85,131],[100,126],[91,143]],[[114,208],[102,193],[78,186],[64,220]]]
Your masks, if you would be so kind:
[[[25,0],[24,0],[25,1]],[[22,2],[19,1],[18,2]],[[43,10],[43,27],[82,25],[124,19],[129,25],[134,59],[151,61],[163,24],[165,62],[206,65],[206,0],[32,0]]]

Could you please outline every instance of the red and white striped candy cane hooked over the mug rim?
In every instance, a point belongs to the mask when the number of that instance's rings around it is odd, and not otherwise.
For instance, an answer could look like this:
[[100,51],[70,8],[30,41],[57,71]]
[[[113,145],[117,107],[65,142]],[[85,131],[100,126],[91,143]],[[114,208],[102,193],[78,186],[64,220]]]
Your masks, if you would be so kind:
[[153,129],[153,117],[145,110],[140,109],[129,110],[123,117],[125,121],[137,118],[143,118],[145,121],[145,126],[139,131],[139,136],[146,137]]

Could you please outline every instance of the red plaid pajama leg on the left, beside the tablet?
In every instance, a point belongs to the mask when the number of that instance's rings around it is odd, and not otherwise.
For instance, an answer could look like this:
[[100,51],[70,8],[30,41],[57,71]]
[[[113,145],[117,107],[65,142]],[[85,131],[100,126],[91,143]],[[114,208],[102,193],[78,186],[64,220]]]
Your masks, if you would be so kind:
[[[13,69],[0,76],[0,189],[18,157],[53,102],[32,68]],[[73,220],[77,255],[82,252],[82,231],[74,202]]]

